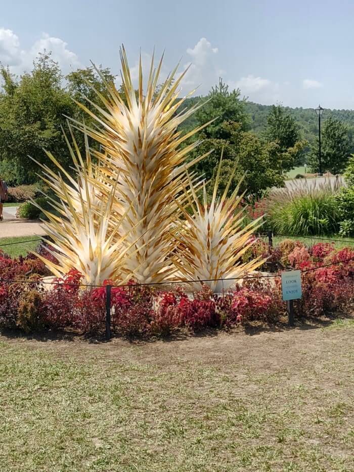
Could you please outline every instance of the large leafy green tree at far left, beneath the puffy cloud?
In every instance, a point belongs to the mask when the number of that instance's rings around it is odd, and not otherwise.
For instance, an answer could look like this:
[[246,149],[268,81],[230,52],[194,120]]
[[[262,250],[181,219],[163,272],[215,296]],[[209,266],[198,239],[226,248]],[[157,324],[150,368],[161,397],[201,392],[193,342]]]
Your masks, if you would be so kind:
[[72,116],[76,106],[62,89],[58,63],[45,52],[34,61],[33,70],[19,80],[4,67],[0,72],[4,80],[0,92],[0,171],[7,169],[12,183],[36,182],[38,165],[29,156],[47,162],[43,148],[68,166],[61,126],[65,125],[64,115]]

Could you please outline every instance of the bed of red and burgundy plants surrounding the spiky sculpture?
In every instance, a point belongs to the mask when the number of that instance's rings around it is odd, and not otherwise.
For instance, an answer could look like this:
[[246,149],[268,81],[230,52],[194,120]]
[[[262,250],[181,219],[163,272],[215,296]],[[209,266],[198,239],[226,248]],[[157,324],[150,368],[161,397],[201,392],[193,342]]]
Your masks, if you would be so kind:
[[[328,316],[351,306],[354,295],[354,250],[318,243],[307,248],[284,240],[277,248],[257,242],[252,250],[274,262],[302,271],[297,317]],[[267,253],[268,251],[268,253]],[[324,267],[323,267],[324,266]],[[105,329],[106,287],[80,288],[81,274],[71,270],[50,289],[40,283],[43,266],[34,256],[11,259],[0,254],[0,327],[25,332],[70,329],[101,335]],[[30,275],[28,275],[28,272]],[[182,288],[170,291],[136,285],[112,287],[112,331],[123,336],[160,336],[174,331],[230,329],[252,322],[277,323],[286,316],[279,274],[245,279],[223,294],[206,286],[191,298]],[[23,279],[31,283],[23,283]],[[114,285],[112,281],[105,284]]]

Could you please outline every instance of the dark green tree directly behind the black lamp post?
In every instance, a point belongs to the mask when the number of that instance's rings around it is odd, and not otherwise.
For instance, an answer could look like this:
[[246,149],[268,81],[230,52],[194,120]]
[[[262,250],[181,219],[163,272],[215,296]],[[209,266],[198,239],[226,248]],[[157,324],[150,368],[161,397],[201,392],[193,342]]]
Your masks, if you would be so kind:
[[[348,126],[329,116],[322,128],[321,159],[322,170],[332,174],[340,174],[348,163],[353,152],[353,140]],[[308,163],[314,172],[319,170],[318,139],[311,147]]]

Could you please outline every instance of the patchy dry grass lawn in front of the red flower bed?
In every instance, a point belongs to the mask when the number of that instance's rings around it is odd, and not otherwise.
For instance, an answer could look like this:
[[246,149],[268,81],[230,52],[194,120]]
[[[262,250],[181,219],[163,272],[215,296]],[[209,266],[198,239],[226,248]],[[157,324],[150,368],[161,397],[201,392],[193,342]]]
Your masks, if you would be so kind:
[[354,470],[353,328],[1,336],[0,470]]

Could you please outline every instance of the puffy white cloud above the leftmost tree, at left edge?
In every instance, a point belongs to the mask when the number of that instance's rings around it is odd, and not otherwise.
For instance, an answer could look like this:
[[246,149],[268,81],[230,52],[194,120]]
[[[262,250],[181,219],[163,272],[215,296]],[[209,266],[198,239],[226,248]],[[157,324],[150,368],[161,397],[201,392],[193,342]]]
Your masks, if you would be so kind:
[[52,58],[59,63],[64,73],[81,66],[77,55],[68,49],[68,44],[63,39],[43,33],[41,38],[25,50],[21,49],[20,40],[11,29],[0,28],[0,62],[9,66],[16,74],[31,69],[32,61],[39,52],[45,50],[52,51]]

